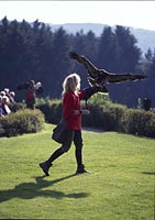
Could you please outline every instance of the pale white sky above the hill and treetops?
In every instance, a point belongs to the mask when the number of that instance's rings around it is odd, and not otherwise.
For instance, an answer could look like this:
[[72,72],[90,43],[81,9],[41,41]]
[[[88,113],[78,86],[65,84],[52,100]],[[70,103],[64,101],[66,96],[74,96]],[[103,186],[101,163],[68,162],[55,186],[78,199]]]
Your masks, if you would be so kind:
[[0,20],[101,23],[155,31],[155,1],[0,1]]

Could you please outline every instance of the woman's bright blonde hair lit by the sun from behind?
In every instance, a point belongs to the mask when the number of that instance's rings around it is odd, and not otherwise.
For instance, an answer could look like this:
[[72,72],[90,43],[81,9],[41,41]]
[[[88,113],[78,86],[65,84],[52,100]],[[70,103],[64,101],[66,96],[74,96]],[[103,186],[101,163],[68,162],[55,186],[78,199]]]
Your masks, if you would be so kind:
[[80,89],[80,77],[78,74],[74,73],[68,75],[63,82],[62,97],[68,91],[78,91]]

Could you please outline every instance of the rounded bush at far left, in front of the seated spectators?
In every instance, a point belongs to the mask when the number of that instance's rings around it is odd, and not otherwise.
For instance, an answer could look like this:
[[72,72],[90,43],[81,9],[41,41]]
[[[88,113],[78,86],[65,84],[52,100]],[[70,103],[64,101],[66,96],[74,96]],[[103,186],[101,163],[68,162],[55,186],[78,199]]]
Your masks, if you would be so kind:
[[0,118],[1,136],[15,136],[23,133],[35,133],[42,130],[44,114],[40,110],[19,110]]

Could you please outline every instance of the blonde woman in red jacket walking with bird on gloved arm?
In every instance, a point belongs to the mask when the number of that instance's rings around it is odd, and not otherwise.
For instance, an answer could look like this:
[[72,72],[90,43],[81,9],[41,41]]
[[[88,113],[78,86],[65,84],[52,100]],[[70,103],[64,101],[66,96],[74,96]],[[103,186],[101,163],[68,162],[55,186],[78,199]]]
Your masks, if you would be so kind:
[[71,143],[75,144],[75,156],[77,162],[76,174],[86,173],[85,165],[82,164],[82,136],[81,136],[81,114],[88,114],[89,111],[81,110],[80,100],[89,99],[95,92],[100,91],[100,87],[93,86],[80,89],[80,77],[77,74],[68,75],[63,82],[63,119],[67,122],[67,131],[64,143],[57,148],[47,161],[40,164],[46,176],[49,176],[48,169],[53,162],[68,152]]

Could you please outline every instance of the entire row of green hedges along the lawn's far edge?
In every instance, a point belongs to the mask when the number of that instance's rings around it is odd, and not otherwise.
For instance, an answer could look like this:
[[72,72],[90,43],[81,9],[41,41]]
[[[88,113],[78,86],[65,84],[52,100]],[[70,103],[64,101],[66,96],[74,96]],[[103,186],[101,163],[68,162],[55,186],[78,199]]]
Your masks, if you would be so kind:
[[[86,108],[85,102],[81,102],[81,107]],[[27,110],[23,107],[8,117],[0,118],[0,136],[37,132],[42,130],[44,121],[56,124],[62,119],[63,107],[58,99],[37,99],[36,108]],[[82,116],[82,127],[155,138],[155,111],[128,109],[107,98],[98,99],[97,96],[89,100],[88,108],[90,114]]]

